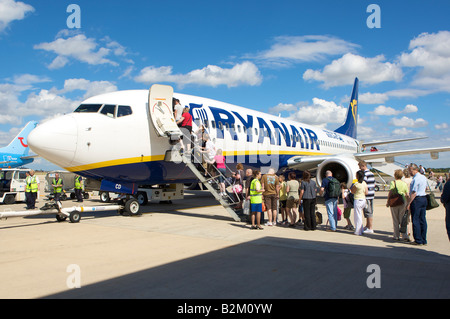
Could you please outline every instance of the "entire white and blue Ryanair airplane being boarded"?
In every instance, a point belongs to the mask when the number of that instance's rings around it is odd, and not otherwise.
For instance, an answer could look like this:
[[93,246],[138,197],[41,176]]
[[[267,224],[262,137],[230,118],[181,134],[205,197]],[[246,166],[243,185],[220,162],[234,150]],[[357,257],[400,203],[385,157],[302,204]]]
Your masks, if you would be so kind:
[[[178,141],[183,134],[173,118],[173,97],[190,108],[193,132],[203,125],[232,170],[237,163],[263,172],[269,167],[278,173],[315,170],[319,185],[325,172],[331,170],[340,182],[350,185],[359,170],[358,160],[382,158],[392,163],[395,156],[429,153],[437,158],[439,152],[450,151],[450,147],[435,147],[361,152],[363,144],[357,139],[358,82],[356,78],[346,121],[335,131],[173,93],[172,87],[155,84],[149,91],[91,97],[73,113],[38,126],[28,143],[50,162],[98,180],[101,190],[126,194],[137,194],[142,185],[199,180],[208,184],[195,165],[198,163],[192,163],[186,154],[179,155]],[[383,171],[382,165],[377,169]],[[218,194],[209,190],[220,201]]]

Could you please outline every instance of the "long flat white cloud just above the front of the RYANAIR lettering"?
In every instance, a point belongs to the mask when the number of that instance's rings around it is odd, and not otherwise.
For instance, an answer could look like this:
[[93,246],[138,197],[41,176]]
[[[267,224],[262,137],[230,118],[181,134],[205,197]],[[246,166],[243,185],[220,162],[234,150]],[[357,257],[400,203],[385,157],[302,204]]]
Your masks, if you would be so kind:
[[234,65],[231,69],[224,69],[216,65],[208,65],[203,69],[193,70],[187,74],[173,74],[171,66],[149,66],[141,70],[134,78],[136,82],[156,83],[173,82],[179,86],[187,84],[199,84],[217,87],[227,85],[235,87],[239,85],[259,85],[262,76],[258,68],[251,62],[243,62]]

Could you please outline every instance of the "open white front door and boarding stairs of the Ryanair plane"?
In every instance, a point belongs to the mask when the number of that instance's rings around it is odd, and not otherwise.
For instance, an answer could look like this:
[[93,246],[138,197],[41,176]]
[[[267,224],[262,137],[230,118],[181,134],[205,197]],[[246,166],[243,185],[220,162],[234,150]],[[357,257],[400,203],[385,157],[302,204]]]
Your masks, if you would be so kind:
[[[210,171],[205,169],[206,158],[200,149],[195,146],[192,152],[184,152],[181,143],[190,143],[194,146],[191,138],[183,136],[180,128],[176,125],[172,113],[173,89],[170,86],[155,84],[149,91],[148,113],[157,135],[169,138],[173,145],[171,150],[165,154],[165,161],[184,163],[196,176],[196,178],[206,187],[214,198],[227,210],[235,221],[241,221],[241,217],[236,213],[237,207],[241,203],[241,194],[238,194],[232,187],[230,180],[224,176],[215,166],[211,165]],[[179,141],[179,142],[177,142]],[[227,167],[227,175],[230,173]],[[230,174],[231,175],[231,174]],[[219,181],[224,180],[225,195],[220,194]],[[230,187],[231,186],[231,187]]]

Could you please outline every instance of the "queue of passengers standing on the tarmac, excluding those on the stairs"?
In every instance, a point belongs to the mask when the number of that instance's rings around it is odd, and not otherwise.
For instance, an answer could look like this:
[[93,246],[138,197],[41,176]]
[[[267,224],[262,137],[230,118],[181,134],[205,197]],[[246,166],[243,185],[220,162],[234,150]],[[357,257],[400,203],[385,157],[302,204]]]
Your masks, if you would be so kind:
[[[263,229],[263,216],[267,212],[266,226],[300,226],[304,230],[316,230],[316,200],[319,195],[325,199],[329,224],[327,231],[336,231],[337,222],[343,217],[346,221],[344,229],[353,231],[355,235],[373,233],[375,179],[365,162],[360,162],[359,167],[350,188],[346,183],[338,182],[336,186],[337,180],[331,171],[326,172],[322,185],[318,186],[308,171],[303,172],[301,180],[297,180],[295,172],[290,172],[286,181],[284,175],[275,175],[273,169],[265,175],[258,170],[247,169],[244,198],[250,208],[250,229]],[[386,202],[392,215],[393,239],[426,245],[426,178],[419,173],[416,164],[411,164],[405,170],[396,170],[394,178]],[[336,187],[340,188],[338,195]],[[337,207],[340,196],[344,204],[343,216]],[[350,218],[352,208],[354,224]],[[281,222],[278,222],[278,215],[281,215]]]

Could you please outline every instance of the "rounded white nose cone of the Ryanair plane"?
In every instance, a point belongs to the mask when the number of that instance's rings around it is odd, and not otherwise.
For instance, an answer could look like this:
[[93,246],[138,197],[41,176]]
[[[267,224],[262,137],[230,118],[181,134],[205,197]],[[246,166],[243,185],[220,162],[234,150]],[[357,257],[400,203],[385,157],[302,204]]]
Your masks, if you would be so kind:
[[65,115],[38,125],[28,135],[30,149],[46,160],[70,167],[77,149],[77,123]]

